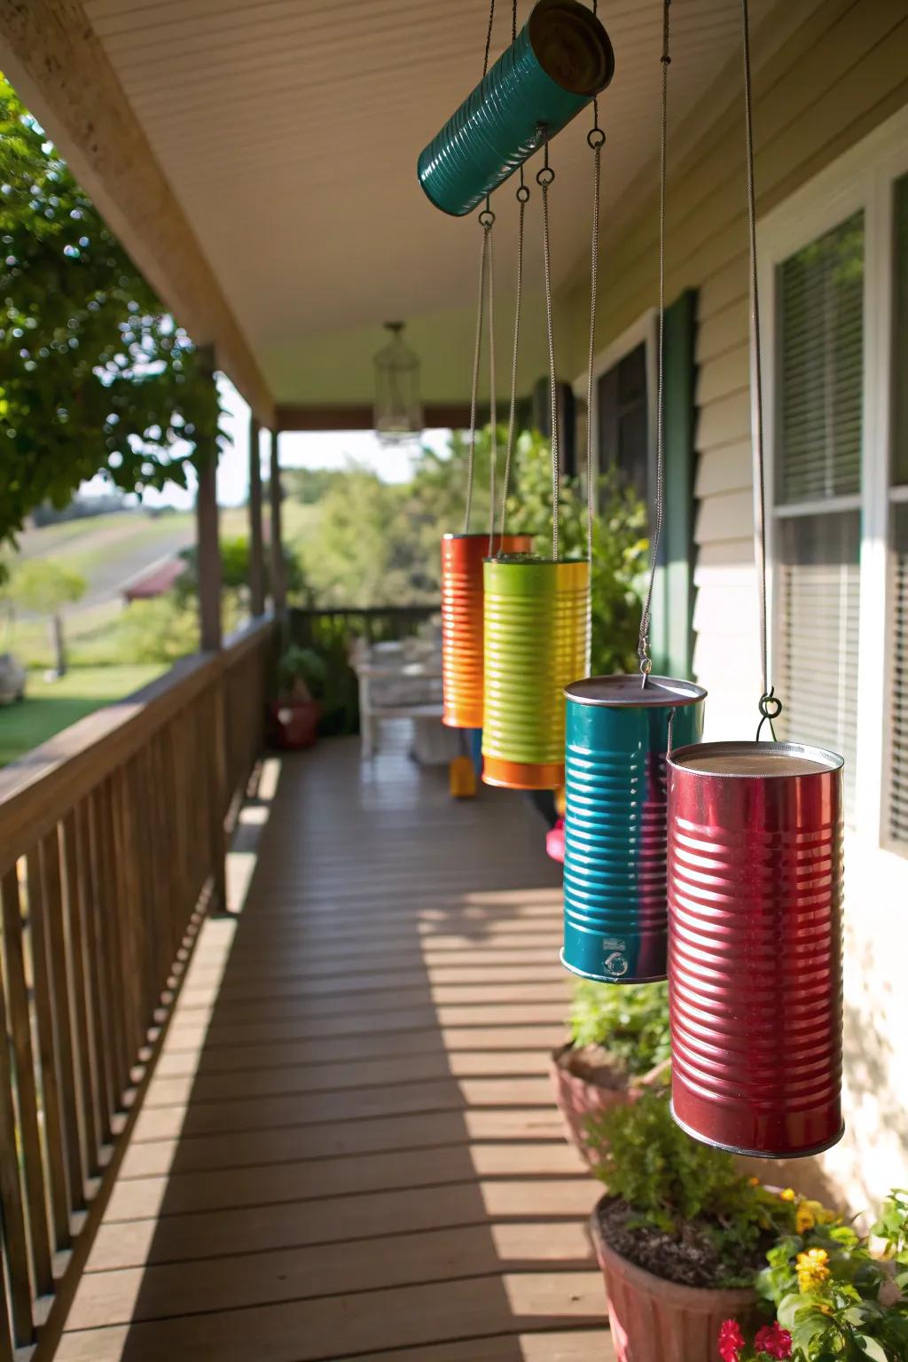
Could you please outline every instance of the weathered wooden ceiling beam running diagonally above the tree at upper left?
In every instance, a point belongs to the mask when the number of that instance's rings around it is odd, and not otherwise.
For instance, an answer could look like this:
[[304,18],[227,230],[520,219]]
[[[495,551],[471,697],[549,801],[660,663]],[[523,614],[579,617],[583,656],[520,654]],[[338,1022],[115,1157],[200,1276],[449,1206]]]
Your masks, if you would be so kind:
[[274,426],[256,357],[80,0],[0,0],[0,69],[180,326],[214,346],[218,368]]

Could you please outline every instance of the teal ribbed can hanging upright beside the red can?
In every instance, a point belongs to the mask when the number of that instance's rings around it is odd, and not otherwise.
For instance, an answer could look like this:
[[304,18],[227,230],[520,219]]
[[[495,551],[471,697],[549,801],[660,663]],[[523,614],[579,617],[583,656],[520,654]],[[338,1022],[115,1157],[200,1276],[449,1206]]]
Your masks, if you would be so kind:
[[561,960],[603,983],[664,979],[668,726],[672,742],[696,742],[707,692],[671,677],[644,686],[637,674],[588,677],[565,695]]

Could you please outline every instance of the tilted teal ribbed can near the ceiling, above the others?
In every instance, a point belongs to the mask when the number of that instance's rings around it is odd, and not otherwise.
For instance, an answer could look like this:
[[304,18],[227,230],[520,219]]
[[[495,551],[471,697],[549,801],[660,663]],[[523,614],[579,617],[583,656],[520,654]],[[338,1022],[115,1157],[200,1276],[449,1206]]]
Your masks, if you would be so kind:
[[577,0],[539,0],[512,45],[419,154],[429,199],[461,217],[600,94],[615,57]]

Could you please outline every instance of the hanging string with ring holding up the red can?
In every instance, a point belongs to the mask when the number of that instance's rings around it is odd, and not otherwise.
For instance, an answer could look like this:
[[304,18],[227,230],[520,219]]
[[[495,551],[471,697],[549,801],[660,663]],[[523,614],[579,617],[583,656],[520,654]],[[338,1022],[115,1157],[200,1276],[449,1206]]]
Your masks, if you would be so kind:
[[754,463],[757,474],[757,579],[760,595],[760,676],[762,691],[760,695],[760,723],[757,725],[757,741],[762,733],[764,723],[769,725],[769,731],[776,738],[773,719],[781,714],[781,700],[776,697],[775,686],[769,684],[769,610],[766,603],[766,471],[762,443],[762,357],[760,350],[760,290],[757,279],[757,204],[754,192],[754,128],[753,128],[753,101],[750,95],[750,19],[747,14],[747,0],[741,0],[742,52],[745,63],[745,138],[747,144],[747,226],[750,233],[750,319],[753,338],[753,441]]

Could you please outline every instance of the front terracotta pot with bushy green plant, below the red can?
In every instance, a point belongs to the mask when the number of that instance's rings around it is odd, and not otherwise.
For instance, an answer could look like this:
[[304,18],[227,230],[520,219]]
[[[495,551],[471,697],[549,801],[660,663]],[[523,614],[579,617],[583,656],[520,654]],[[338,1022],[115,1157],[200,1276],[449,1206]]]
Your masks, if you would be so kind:
[[719,1362],[723,1321],[751,1328],[758,1318],[754,1279],[795,1229],[795,1194],[685,1135],[664,1090],[610,1107],[589,1139],[609,1188],[591,1231],[618,1362]]

